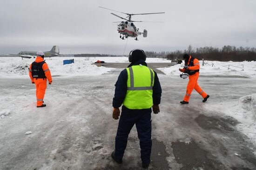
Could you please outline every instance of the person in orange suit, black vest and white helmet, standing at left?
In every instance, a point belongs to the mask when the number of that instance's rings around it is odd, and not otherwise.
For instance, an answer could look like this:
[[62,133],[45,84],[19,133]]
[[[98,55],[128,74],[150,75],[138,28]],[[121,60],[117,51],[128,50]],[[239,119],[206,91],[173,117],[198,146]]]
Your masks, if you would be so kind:
[[30,64],[29,76],[36,88],[36,107],[46,107],[46,104],[43,104],[43,99],[47,87],[47,80],[49,84],[52,84],[53,81],[48,65],[45,63],[44,53],[42,51],[36,53],[35,61]]

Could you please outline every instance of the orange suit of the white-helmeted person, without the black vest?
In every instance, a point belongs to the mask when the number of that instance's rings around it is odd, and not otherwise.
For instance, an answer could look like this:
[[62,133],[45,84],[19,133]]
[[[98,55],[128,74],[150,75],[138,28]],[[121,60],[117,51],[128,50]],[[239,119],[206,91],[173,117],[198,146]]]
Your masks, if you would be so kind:
[[[37,56],[35,59],[36,63],[40,63],[43,61],[44,61],[43,58],[39,57],[39,56]],[[53,82],[51,72],[48,68],[47,63],[44,63],[42,65],[42,69],[45,73],[46,78],[33,78],[32,64],[30,64],[30,67],[29,67],[30,79],[31,79],[31,82],[35,84],[35,88],[36,88],[36,100],[37,100],[36,105],[37,106],[41,106],[43,104],[44,94],[45,94],[45,90],[47,88],[47,80],[48,80],[49,84],[51,84]]]

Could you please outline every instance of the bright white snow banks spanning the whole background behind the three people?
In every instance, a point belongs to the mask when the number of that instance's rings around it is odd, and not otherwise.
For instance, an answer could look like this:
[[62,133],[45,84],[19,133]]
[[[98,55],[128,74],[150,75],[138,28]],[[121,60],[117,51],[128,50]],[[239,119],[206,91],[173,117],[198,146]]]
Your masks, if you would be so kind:
[[[74,57],[74,63],[63,65],[63,60],[72,59],[69,57],[52,57],[46,58],[46,62],[51,70],[52,75],[60,76],[81,76],[81,75],[100,75],[113,70],[114,68],[98,67],[92,63],[97,60],[106,63],[128,63],[128,57]],[[0,57],[0,76],[27,76],[29,65],[34,58],[21,60],[20,57]],[[147,58],[147,63],[170,63],[166,58]],[[229,76],[246,76],[250,78],[256,77],[256,62],[218,62],[204,61],[202,66],[200,61],[201,75],[229,75]],[[212,65],[214,64],[214,66]],[[181,72],[179,68],[183,68],[182,64],[175,66],[159,68],[166,75],[179,76]],[[228,69],[229,68],[229,69]]]

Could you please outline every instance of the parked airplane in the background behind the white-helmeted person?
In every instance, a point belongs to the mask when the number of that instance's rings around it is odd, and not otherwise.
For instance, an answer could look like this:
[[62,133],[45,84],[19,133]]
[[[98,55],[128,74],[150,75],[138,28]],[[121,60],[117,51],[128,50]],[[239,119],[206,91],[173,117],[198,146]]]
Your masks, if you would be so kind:
[[[19,56],[23,60],[23,58],[32,58],[32,57],[35,58],[36,53],[37,51],[20,51],[18,54],[12,54],[12,55]],[[59,56],[59,54],[60,54],[59,46],[54,45],[52,50],[44,52],[44,57],[56,57],[56,56]]]

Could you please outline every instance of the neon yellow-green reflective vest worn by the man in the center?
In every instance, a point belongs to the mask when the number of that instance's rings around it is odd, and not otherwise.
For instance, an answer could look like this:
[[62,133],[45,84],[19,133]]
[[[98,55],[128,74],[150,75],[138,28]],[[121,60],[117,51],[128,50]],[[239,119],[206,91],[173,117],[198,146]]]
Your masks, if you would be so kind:
[[153,105],[155,73],[143,65],[127,68],[127,93],[123,105],[129,109],[145,109]]

